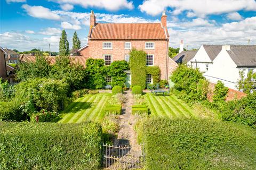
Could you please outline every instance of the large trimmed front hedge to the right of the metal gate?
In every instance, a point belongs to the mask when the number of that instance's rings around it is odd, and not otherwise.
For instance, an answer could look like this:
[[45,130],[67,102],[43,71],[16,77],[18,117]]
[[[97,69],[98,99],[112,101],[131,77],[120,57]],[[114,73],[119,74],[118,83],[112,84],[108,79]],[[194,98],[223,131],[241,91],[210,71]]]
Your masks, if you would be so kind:
[[256,132],[247,126],[150,118],[142,129],[147,169],[255,169]]

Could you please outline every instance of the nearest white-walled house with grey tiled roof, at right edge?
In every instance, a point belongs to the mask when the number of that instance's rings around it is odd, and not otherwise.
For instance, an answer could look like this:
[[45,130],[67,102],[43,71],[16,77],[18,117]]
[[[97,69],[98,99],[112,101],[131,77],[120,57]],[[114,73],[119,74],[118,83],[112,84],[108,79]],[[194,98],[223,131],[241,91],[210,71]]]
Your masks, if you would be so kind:
[[250,70],[256,72],[256,45],[222,45],[204,77],[212,83],[220,80],[226,87],[237,90],[241,70],[244,70],[245,75]]

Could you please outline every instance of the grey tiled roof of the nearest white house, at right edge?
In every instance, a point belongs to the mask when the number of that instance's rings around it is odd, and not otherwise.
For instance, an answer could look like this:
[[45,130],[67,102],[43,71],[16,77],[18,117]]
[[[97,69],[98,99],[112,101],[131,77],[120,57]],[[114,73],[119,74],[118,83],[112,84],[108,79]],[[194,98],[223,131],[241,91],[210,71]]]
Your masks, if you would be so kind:
[[256,67],[256,45],[230,45],[227,52],[238,67]]

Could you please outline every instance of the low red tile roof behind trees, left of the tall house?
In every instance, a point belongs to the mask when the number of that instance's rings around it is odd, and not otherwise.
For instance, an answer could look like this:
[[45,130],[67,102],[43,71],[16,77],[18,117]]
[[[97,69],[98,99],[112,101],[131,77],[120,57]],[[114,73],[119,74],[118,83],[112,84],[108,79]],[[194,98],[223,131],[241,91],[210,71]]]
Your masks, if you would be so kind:
[[[50,62],[50,65],[55,64],[55,56],[46,56],[47,60]],[[85,56],[70,56],[70,60],[71,62],[74,63],[79,63],[81,65],[83,65],[84,67],[86,66],[86,60],[89,57],[85,57]],[[36,56],[21,56],[20,57],[21,62],[35,62],[36,61]]]

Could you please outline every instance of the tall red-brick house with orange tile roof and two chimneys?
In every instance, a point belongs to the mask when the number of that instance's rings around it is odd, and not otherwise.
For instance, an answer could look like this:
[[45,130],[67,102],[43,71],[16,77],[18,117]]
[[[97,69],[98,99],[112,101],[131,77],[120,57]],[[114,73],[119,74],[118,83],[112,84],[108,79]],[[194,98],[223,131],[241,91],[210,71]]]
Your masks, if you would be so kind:
[[[132,48],[142,49],[147,53],[147,66],[159,66],[161,79],[168,80],[171,72],[178,66],[169,56],[169,33],[166,26],[165,12],[161,23],[97,23],[91,11],[88,44],[78,52],[81,56],[101,58],[105,65],[113,61],[129,61]],[[131,79],[128,71],[127,77]],[[152,83],[147,75],[147,83]],[[107,78],[111,81],[111,78]]]

